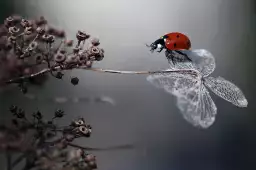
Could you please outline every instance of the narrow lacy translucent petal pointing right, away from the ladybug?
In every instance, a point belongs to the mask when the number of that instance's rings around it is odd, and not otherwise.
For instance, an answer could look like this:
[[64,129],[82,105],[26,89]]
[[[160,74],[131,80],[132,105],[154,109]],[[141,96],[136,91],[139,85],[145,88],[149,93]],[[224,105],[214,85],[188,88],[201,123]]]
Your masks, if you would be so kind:
[[233,83],[222,77],[206,77],[204,84],[216,95],[238,107],[247,107],[248,101],[243,92]]

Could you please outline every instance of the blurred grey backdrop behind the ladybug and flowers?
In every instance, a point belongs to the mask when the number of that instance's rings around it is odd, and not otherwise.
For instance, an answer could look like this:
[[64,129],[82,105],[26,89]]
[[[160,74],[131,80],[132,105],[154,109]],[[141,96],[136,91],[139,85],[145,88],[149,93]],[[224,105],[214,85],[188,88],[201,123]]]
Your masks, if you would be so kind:
[[[93,126],[81,145],[107,147],[135,144],[134,150],[94,152],[104,170],[245,170],[256,169],[256,12],[253,0],[12,0],[1,1],[1,19],[12,13],[45,16],[75,38],[78,29],[101,40],[105,59],[97,67],[119,70],[167,68],[164,54],[151,54],[151,43],[167,32],[184,32],[194,49],[208,49],[216,57],[214,76],[222,76],[242,89],[249,101],[240,109],[216,97],[215,124],[199,130],[188,124],[175,106],[175,98],[151,86],[145,76],[72,71],[65,82],[50,79],[31,89],[38,96],[99,96],[117,101],[99,104],[41,103],[17,89],[1,92],[1,116],[17,104],[51,114],[63,108],[66,121],[84,116]],[[69,83],[77,75],[80,84]],[[4,119],[2,119],[4,120]],[[144,147],[142,147],[142,145]],[[1,163],[3,164],[3,163]]]

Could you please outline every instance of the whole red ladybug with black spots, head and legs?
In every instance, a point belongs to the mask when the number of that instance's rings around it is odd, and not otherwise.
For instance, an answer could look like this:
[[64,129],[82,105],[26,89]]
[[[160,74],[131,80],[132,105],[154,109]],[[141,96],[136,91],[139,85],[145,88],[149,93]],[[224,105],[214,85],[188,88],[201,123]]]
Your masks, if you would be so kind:
[[184,56],[188,61],[191,59],[182,52],[182,50],[190,50],[191,49],[191,41],[185,34],[180,32],[171,32],[165,34],[164,36],[157,39],[151,45],[147,45],[150,47],[150,51],[154,52],[154,50],[159,49],[157,52],[160,53],[163,49],[166,50],[166,57],[173,61],[174,53],[178,53],[181,56]]

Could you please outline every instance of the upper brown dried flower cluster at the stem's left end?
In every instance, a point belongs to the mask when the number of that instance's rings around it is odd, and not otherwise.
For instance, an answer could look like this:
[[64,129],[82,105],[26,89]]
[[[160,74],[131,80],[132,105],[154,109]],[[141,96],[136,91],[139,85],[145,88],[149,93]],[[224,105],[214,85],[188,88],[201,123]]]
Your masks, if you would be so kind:
[[[76,33],[76,43],[66,38],[63,30],[49,26],[44,17],[27,20],[10,16],[0,26],[0,82],[18,83],[27,92],[25,82],[37,82],[48,69],[52,76],[62,79],[62,70],[91,67],[104,58],[104,50],[97,38],[86,41],[90,35]],[[42,72],[40,72],[42,71]],[[79,79],[71,78],[77,85]]]

